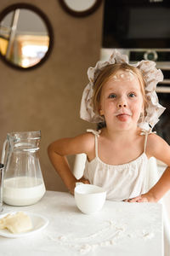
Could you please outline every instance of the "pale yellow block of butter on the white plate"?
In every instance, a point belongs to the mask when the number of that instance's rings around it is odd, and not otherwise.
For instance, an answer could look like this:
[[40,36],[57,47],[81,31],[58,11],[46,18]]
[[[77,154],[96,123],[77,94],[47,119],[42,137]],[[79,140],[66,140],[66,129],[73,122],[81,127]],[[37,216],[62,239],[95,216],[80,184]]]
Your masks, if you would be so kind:
[[8,214],[0,219],[0,229],[7,229],[11,233],[22,233],[32,229],[31,218],[25,212]]

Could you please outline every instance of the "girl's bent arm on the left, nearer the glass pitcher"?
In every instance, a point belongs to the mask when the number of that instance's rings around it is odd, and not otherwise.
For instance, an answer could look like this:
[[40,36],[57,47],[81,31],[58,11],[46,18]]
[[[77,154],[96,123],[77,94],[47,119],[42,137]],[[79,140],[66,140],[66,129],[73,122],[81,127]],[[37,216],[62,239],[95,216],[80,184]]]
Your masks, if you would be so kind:
[[[81,153],[88,155],[88,150],[93,147],[93,143],[94,137],[91,134],[86,133],[73,138],[60,139],[48,146],[49,159],[72,195],[74,194],[77,179],[71,172],[66,155]],[[88,180],[83,178],[79,181],[89,183]]]

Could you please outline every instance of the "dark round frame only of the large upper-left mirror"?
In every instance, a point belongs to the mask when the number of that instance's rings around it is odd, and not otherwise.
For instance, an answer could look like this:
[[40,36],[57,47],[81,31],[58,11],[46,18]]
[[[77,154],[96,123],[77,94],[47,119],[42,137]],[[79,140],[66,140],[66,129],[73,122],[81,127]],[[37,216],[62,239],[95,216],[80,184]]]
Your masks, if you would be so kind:
[[0,52],[0,59],[2,59],[5,64],[7,64],[9,67],[13,67],[14,69],[18,69],[21,71],[28,71],[28,70],[32,70],[34,68],[40,67],[45,61],[47,61],[48,56],[50,55],[52,49],[53,49],[53,45],[54,45],[54,33],[53,33],[53,28],[51,26],[50,21],[48,20],[47,15],[45,15],[41,9],[39,9],[37,6],[32,5],[30,3],[14,3],[9,5],[7,8],[3,9],[3,11],[0,13],[0,21],[3,20],[3,18],[8,15],[8,13],[10,13],[11,11],[14,11],[14,9],[29,9],[32,10],[33,12],[35,12],[37,15],[40,16],[40,18],[42,18],[42,20],[44,21],[44,25],[47,27],[47,31],[48,31],[48,35],[49,35],[49,45],[48,45],[48,51],[46,52],[46,54],[43,56],[42,60],[39,61],[36,65],[31,66],[31,67],[20,67],[15,65],[14,63],[8,61],[5,56],[3,56]]

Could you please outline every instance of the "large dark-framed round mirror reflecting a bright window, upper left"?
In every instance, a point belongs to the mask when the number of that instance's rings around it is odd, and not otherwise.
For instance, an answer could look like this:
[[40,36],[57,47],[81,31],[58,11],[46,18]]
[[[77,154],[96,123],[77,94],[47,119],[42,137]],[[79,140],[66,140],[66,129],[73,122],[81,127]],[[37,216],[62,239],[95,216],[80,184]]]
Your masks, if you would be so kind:
[[38,67],[47,60],[52,43],[52,27],[37,7],[19,3],[0,14],[0,56],[11,67]]

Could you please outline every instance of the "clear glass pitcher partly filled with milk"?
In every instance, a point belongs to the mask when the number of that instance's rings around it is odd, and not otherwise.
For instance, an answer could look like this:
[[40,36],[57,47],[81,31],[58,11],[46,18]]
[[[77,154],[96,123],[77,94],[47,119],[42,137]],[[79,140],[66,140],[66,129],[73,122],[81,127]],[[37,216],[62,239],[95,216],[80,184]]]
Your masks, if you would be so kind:
[[28,206],[45,193],[38,150],[41,131],[11,132],[3,143],[3,201]]

